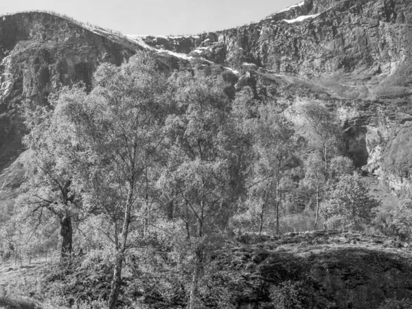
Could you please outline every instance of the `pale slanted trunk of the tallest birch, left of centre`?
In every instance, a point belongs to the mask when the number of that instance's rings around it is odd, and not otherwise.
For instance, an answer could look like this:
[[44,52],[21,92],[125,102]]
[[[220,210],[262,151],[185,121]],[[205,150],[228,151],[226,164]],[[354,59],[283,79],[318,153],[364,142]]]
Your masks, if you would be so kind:
[[133,205],[133,190],[134,190],[135,181],[132,180],[128,183],[128,196],[126,200],[126,207],[124,209],[124,222],[122,228],[122,236],[120,243],[117,244],[117,256],[115,261],[115,267],[113,270],[113,280],[111,282],[111,291],[108,297],[108,308],[115,309],[117,304],[117,299],[119,298],[119,290],[122,285],[122,267],[124,252],[126,251],[127,246],[127,237],[128,237],[128,227],[130,225],[130,212]]

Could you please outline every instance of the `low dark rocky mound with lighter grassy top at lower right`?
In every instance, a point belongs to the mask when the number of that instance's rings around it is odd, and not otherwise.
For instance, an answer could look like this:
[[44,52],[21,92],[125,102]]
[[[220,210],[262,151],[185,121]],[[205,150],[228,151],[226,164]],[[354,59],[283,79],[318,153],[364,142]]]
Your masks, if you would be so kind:
[[[227,256],[233,268],[246,269],[253,284],[268,285],[268,290],[281,282],[301,284],[306,297],[317,304],[314,308],[378,308],[387,298],[412,297],[409,243],[340,231],[288,233],[281,238],[244,235],[239,240],[244,247]],[[255,286],[245,296],[249,304],[240,308],[264,302],[268,295],[256,293],[265,290],[262,286]]]

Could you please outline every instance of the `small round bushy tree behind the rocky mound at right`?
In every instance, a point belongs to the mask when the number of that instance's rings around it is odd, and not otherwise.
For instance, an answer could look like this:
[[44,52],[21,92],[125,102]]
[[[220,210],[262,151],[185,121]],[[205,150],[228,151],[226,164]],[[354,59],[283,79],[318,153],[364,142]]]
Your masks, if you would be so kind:
[[362,223],[369,222],[372,209],[380,204],[368,194],[361,176],[343,175],[328,192],[321,208],[325,219],[336,226],[360,229]]

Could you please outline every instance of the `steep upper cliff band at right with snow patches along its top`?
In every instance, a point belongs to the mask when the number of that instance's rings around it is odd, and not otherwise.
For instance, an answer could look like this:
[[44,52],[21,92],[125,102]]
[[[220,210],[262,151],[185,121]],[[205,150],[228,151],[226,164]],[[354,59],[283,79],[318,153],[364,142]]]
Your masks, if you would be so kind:
[[306,0],[242,27],[142,39],[231,67],[251,62],[276,73],[376,84],[409,65],[411,20],[407,0]]

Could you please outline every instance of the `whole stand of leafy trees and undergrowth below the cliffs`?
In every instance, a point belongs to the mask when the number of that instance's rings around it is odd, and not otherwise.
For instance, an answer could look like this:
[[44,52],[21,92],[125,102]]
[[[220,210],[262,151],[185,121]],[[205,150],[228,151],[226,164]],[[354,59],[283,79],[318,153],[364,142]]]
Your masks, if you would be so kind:
[[[94,80],[27,104],[26,180],[0,230],[3,260],[44,250],[57,229],[61,263],[41,284],[55,306],[236,308],[264,290],[265,308],[317,308],[312,282],[266,291],[219,256],[239,233],[373,224],[379,203],[334,112],[303,104],[297,128],[275,98],[235,94],[206,71],[166,76],[143,53]],[[393,221],[404,237],[409,204]]]

